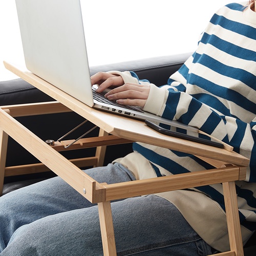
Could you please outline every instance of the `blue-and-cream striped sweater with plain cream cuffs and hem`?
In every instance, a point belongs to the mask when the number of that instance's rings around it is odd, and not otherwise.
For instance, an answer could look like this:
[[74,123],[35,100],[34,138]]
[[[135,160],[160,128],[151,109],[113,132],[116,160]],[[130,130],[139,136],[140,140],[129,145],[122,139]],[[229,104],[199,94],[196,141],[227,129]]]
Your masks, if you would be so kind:
[[[121,75],[126,82],[142,83],[133,72]],[[218,10],[201,34],[196,52],[165,86],[150,86],[145,111],[196,126],[250,159],[246,181],[236,183],[246,242],[256,229],[256,12],[238,3]],[[134,143],[134,153],[117,161],[137,179],[213,168],[195,156],[144,143]],[[212,247],[228,249],[221,184],[160,196],[174,203]]]

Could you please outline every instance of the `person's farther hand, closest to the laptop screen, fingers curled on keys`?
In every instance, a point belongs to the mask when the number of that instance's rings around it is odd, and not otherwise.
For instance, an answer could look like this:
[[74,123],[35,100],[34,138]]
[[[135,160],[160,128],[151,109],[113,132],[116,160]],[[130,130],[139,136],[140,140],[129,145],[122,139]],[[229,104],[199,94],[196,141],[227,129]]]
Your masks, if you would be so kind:
[[91,82],[98,84],[96,92],[103,92],[107,88],[115,88],[124,84],[123,78],[119,75],[112,75],[106,72],[98,72],[91,76]]

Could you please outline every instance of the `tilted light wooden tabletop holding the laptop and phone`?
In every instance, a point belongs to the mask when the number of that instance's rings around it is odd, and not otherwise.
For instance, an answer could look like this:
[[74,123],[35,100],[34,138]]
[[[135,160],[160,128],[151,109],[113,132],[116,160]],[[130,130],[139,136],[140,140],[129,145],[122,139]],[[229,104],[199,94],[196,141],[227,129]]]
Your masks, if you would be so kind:
[[124,139],[166,147],[172,150],[220,161],[227,161],[228,159],[229,163],[239,166],[247,166],[249,163],[247,158],[235,152],[228,152],[223,148],[212,147],[197,142],[162,135],[146,126],[143,121],[90,108],[81,101],[54,87],[44,79],[34,75],[25,67],[18,67],[17,65],[12,65],[8,62],[4,62],[4,64],[8,70],[17,76],[110,134]]

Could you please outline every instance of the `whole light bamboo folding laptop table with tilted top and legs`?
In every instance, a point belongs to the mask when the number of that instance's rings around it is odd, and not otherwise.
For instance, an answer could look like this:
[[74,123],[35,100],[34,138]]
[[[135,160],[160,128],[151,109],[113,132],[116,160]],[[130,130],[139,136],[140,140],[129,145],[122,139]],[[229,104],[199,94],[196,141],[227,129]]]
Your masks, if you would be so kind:
[[[84,198],[92,203],[98,204],[103,252],[104,255],[112,256],[116,255],[116,247],[110,204],[111,200],[223,183],[230,251],[219,253],[219,255],[243,255],[234,181],[245,179],[246,166],[249,163],[247,158],[237,153],[229,152],[223,148],[159,134],[139,120],[95,110],[27,71],[26,68],[16,67],[7,62],[5,62],[5,67],[34,87],[48,94],[56,101],[10,105],[0,108],[0,189],[1,186],[3,188],[3,184],[1,183],[3,183],[5,172],[7,171],[5,160],[8,136],[10,136],[26,148],[26,150],[34,155],[42,164],[46,165],[55,174],[76,189]],[[211,163],[216,168],[188,174],[116,184],[98,183],[82,172],[78,166],[58,153],[58,151],[65,150],[65,146],[70,143],[70,141],[61,141],[50,146],[14,119],[14,117],[17,116],[70,111],[76,112],[100,127],[99,137],[78,140],[70,148],[97,146],[96,156],[88,160],[88,165],[102,164],[104,146],[128,143],[132,140],[193,154]]]

